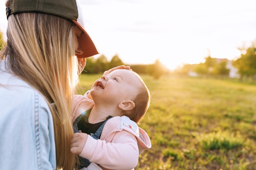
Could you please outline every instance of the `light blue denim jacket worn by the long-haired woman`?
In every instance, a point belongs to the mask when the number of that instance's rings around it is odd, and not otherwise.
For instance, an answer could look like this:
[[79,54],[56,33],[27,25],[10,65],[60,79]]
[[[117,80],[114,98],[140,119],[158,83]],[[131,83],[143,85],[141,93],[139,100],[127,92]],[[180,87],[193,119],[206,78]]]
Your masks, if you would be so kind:
[[44,97],[0,60],[0,169],[54,170],[52,114]]

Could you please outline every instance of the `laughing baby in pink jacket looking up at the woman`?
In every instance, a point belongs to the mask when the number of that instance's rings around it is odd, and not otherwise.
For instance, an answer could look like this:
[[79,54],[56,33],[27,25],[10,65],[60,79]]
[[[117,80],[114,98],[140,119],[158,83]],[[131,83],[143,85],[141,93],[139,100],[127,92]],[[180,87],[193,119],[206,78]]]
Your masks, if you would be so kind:
[[[76,168],[126,169],[137,166],[139,154],[151,148],[150,138],[137,124],[150,104],[141,77],[116,69],[94,82],[89,93],[74,96],[71,152]],[[88,135],[89,134],[89,135]]]

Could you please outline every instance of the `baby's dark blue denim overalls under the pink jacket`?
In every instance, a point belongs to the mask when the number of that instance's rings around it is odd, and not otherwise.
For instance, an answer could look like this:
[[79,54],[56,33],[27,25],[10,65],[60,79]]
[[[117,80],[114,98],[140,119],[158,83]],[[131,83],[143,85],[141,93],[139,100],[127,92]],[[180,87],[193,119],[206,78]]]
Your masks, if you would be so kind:
[[[88,112],[89,110],[87,110],[87,111],[85,111],[83,114],[81,114],[79,117],[77,117],[76,118],[76,120],[74,121],[74,123],[73,123],[73,126],[74,126],[74,132],[76,133],[76,132],[79,132],[78,131],[78,127],[77,127],[77,124],[78,124],[78,122],[81,120],[81,118],[83,117],[83,115],[85,115],[87,112]],[[101,135],[101,132],[102,132],[102,130],[103,130],[103,127],[104,127],[104,125],[106,124],[106,122],[108,121],[109,119],[107,119],[99,128],[98,128],[98,130],[93,134],[93,133],[91,133],[90,135],[91,135],[91,137],[93,137],[94,139],[99,139],[99,136]],[[90,165],[90,161],[88,160],[88,159],[85,159],[85,158],[83,158],[83,157],[80,157],[79,155],[78,155],[78,157],[79,157],[79,165],[76,163],[76,168],[77,169],[82,169],[82,168],[86,168],[86,167],[88,167],[89,165]]]

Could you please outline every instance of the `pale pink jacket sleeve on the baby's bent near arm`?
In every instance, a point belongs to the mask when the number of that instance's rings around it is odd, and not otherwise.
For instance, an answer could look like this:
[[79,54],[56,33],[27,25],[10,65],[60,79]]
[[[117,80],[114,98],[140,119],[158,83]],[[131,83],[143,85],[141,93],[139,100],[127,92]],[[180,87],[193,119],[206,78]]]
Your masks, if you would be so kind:
[[108,169],[131,170],[137,166],[139,148],[136,137],[122,130],[111,143],[89,135],[80,156]]

